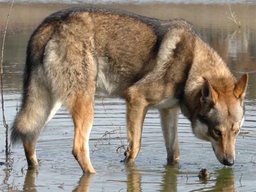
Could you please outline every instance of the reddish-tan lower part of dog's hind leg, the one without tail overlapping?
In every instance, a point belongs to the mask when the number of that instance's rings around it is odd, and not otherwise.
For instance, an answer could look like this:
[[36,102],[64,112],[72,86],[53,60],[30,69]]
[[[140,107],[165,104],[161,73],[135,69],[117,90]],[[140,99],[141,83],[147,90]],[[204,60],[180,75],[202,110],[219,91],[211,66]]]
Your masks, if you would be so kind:
[[89,156],[89,135],[94,117],[95,85],[86,93],[77,93],[73,99],[71,114],[75,125],[75,137],[72,154],[83,172],[95,173]]

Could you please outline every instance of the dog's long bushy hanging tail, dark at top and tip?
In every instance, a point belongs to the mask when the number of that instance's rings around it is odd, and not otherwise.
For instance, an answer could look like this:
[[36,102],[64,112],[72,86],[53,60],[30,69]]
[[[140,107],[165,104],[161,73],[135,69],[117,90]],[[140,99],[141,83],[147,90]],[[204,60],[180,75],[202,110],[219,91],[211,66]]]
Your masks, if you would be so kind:
[[12,144],[37,140],[44,125],[54,115],[52,109],[57,103],[52,98],[43,70],[44,49],[54,28],[54,24],[42,23],[29,40],[23,76],[23,99],[11,128]]

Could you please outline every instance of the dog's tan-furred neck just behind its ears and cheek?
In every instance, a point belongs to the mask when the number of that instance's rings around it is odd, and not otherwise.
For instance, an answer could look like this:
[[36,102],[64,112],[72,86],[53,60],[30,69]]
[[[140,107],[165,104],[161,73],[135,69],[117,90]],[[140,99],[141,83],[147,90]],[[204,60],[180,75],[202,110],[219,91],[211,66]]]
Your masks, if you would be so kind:
[[218,53],[198,37],[195,42],[193,64],[180,102],[181,111],[192,123],[201,110],[201,90],[206,80],[218,92],[233,94],[236,78]]

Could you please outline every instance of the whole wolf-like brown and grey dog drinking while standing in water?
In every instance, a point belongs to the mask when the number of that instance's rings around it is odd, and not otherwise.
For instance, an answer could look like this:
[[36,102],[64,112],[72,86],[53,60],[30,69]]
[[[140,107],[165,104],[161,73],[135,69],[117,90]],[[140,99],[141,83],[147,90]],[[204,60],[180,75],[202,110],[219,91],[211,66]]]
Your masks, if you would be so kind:
[[210,141],[219,162],[231,166],[244,120],[247,81],[247,74],[237,81],[186,20],[96,7],[61,10],[47,17],[29,40],[12,143],[22,142],[28,166],[38,165],[38,136],[65,106],[75,126],[72,154],[84,172],[94,173],[88,140],[95,89],[100,87],[127,104],[128,147],[123,162],[134,162],[145,114],[157,108],[169,163],[180,158],[181,109],[195,136]]

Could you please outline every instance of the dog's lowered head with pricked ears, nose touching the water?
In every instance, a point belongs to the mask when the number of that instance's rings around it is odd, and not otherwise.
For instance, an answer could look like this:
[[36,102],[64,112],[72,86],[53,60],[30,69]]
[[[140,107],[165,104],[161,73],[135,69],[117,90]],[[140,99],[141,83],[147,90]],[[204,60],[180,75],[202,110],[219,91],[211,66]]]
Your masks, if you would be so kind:
[[219,162],[227,166],[232,166],[235,160],[235,141],[244,121],[247,81],[248,75],[244,74],[232,88],[218,90],[205,80],[201,110],[192,123],[195,136],[210,141]]

